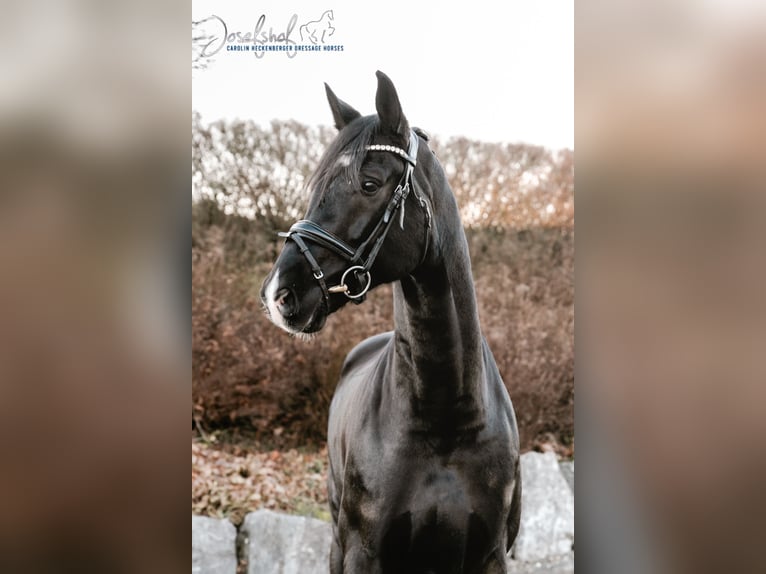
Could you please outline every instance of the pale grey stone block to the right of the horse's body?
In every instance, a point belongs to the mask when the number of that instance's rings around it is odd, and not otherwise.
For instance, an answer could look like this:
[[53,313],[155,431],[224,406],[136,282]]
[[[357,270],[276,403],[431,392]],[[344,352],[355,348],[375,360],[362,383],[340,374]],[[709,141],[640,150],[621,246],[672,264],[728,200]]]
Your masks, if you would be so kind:
[[570,553],[574,544],[574,494],[556,455],[522,455],[521,480],[521,526],[513,557],[534,562]]

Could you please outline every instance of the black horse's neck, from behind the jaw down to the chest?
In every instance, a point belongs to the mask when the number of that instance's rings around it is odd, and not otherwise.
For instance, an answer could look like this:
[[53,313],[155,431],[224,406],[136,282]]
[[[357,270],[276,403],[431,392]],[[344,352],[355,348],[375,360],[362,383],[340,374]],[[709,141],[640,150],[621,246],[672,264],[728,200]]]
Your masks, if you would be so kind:
[[395,380],[416,417],[471,426],[483,418],[484,371],[468,243],[446,181],[431,197],[432,249],[394,285]]

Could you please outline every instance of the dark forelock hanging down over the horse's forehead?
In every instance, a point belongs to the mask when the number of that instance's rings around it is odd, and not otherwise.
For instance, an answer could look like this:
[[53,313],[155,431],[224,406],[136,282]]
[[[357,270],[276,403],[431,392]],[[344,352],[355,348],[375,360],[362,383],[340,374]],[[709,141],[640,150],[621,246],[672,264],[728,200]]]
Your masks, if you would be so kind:
[[[365,146],[372,143],[377,128],[378,117],[371,115],[357,118],[338,133],[308,181],[309,189],[319,194],[320,202],[336,177],[344,177],[353,189],[361,188],[359,171],[367,154]],[[341,156],[346,156],[348,161],[338,161]]]

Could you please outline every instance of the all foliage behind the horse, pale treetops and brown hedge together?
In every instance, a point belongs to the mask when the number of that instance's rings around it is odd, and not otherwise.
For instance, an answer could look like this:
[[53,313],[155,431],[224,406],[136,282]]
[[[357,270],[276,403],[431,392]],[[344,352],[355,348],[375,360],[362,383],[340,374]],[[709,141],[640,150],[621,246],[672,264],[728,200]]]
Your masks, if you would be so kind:
[[[302,209],[300,187],[332,133],[289,122],[205,127],[195,116],[193,123],[195,422],[208,431],[248,428],[282,447],[321,445],[346,354],[393,327],[390,287],[339,311],[309,343],[268,321],[258,290],[282,245],[274,232]],[[514,402],[522,448],[571,455],[572,152],[460,138],[432,145],[467,222],[482,328]]]

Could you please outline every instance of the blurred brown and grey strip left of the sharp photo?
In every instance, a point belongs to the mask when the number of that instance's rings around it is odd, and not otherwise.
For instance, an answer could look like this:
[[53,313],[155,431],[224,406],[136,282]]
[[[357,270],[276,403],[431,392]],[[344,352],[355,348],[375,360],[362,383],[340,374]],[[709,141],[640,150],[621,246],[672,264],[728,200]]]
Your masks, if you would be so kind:
[[189,27],[173,4],[3,3],[3,572],[188,570]]

